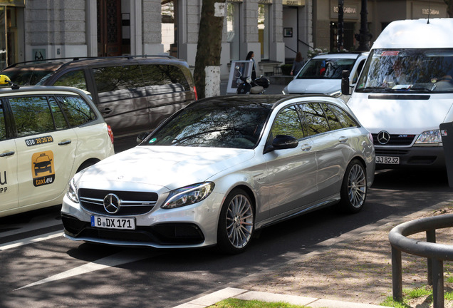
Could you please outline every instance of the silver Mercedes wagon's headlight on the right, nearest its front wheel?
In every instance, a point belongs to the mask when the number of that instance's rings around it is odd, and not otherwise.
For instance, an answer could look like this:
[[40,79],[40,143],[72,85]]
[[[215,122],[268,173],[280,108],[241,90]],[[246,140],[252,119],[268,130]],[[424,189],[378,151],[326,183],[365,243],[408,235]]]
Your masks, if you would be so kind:
[[192,205],[207,198],[214,190],[214,183],[200,183],[189,185],[184,188],[173,190],[167,201],[161,207],[164,209],[172,209]]

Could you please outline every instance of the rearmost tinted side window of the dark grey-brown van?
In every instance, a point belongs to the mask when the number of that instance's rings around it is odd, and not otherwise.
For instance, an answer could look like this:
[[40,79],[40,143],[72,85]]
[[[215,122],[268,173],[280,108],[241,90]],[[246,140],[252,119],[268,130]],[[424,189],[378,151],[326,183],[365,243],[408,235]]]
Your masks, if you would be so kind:
[[189,91],[189,83],[184,73],[172,65],[150,64],[140,66],[146,86],[173,86],[174,91]]

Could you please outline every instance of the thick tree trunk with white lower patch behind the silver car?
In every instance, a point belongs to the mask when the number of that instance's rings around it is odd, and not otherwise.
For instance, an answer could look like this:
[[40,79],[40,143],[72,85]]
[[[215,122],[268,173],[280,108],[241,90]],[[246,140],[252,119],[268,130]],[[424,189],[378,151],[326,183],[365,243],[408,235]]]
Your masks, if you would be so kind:
[[[220,88],[220,53],[222,51],[222,33],[225,15],[225,0],[203,0],[202,13],[199,21],[197,56],[195,58],[194,81],[198,98],[206,97],[206,93],[219,93],[215,89],[207,89],[207,71],[209,81],[218,78],[218,84],[209,82],[209,86]],[[207,69],[208,68],[208,69]],[[208,91],[207,91],[208,90]]]

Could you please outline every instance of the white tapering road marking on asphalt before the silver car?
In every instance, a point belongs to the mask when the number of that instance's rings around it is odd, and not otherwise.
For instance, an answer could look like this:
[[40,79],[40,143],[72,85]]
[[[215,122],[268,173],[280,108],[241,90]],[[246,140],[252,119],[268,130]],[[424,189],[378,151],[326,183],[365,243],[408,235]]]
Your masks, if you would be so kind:
[[[75,267],[72,270],[67,270],[66,272],[62,272],[60,274],[55,274],[46,279],[42,279],[37,282],[27,284],[26,286],[20,287],[19,289],[33,287],[38,284],[45,284],[47,282],[54,282],[56,280],[66,279],[69,277],[78,276],[80,274],[95,272],[97,270],[103,270],[107,267],[115,267],[118,265],[123,265],[125,263],[130,263],[130,262],[147,259],[151,256],[152,256],[152,254],[150,254],[150,252],[143,252],[140,250],[123,250],[122,252],[118,252],[114,255],[110,255],[108,257],[104,257],[102,259],[96,260],[95,262],[90,262],[85,265],[81,265],[80,267]],[[14,291],[19,290],[19,289],[14,289]]]

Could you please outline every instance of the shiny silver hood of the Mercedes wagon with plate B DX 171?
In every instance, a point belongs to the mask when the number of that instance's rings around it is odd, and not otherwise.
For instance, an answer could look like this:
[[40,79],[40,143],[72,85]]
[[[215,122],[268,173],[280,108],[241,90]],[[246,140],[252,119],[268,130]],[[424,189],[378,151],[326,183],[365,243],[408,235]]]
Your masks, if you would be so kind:
[[[254,150],[174,146],[137,146],[85,170],[80,187],[169,190],[202,183],[254,157]],[[127,184],[128,183],[128,184]]]

